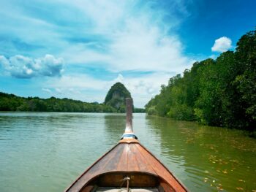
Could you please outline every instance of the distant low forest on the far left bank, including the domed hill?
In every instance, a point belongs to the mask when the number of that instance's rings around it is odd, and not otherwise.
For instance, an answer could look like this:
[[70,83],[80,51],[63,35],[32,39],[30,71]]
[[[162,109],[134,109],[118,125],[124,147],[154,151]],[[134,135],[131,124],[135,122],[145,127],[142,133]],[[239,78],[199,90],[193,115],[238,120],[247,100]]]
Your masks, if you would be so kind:
[[[39,97],[20,97],[0,92],[0,111],[25,112],[125,112],[125,96],[130,97],[129,91],[120,82],[112,86],[105,99],[105,104],[88,103],[72,99],[40,99]],[[112,94],[113,93],[113,94]],[[125,94],[124,94],[125,93]],[[127,95],[128,94],[128,95]],[[112,101],[119,101],[113,105]],[[145,112],[135,108],[134,112]]]

